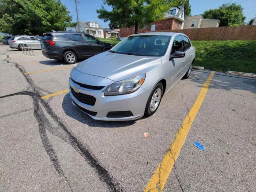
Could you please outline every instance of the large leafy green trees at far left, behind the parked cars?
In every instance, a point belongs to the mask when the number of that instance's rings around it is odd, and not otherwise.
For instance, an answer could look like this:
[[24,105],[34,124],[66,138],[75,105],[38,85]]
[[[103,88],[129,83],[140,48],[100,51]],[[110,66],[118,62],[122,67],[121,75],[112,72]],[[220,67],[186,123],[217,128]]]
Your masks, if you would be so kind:
[[7,24],[1,30],[13,35],[64,30],[72,20],[60,0],[0,0],[0,7],[0,20]]

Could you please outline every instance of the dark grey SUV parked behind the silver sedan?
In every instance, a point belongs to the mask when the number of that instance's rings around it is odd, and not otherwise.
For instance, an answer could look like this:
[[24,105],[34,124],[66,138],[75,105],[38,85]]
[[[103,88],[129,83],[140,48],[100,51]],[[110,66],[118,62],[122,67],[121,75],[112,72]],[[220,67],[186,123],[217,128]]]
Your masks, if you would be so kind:
[[112,45],[101,42],[86,33],[50,32],[41,40],[42,54],[50,59],[74,64],[77,59],[88,58],[110,50]]

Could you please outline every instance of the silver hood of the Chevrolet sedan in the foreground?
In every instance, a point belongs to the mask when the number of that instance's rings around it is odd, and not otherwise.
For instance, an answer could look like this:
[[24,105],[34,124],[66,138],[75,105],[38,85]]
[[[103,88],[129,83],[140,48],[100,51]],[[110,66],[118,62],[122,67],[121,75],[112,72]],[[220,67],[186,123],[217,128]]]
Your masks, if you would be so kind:
[[146,73],[162,63],[161,57],[103,52],[80,62],[75,69],[94,76],[120,81]]

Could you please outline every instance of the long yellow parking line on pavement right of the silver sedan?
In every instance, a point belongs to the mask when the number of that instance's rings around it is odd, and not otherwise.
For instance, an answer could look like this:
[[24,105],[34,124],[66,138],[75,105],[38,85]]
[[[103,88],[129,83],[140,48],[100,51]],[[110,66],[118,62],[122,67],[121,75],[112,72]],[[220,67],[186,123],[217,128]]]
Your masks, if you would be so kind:
[[211,72],[211,74],[208,76],[194,105],[190,109],[190,112],[186,116],[178,133],[175,135],[176,137],[175,137],[174,142],[172,142],[168,152],[164,155],[162,162],[160,162],[160,164],[156,168],[156,170],[155,170],[151,180],[148,182],[148,185],[146,186],[144,192],[162,192],[162,190],[164,189],[164,185],[166,184],[166,181],[172,171],[174,162],[178,158],[178,155],[179,155],[180,150],[186,140],[186,136],[188,135],[188,132],[189,132],[190,127],[194,121],[194,118],[196,117],[196,114],[198,113],[198,110],[204,100],[204,97],[206,96],[208,87],[210,85],[210,82],[212,81],[214,73],[215,72]]

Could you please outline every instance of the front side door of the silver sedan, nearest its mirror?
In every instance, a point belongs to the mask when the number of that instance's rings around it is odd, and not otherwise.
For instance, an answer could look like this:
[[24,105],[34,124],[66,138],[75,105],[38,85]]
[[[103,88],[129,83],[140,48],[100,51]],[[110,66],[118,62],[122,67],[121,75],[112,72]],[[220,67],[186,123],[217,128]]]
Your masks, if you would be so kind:
[[[175,51],[183,51],[183,44],[182,44],[182,36],[178,35],[174,38],[173,44],[172,44],[172,50],[170,52],[170,55],[174,54]],[[180,72],[182,71],[182,68],[184,67],[184,58],[174,58],[169,61],[169,77],[168,77],[168,89],[172,88],[180,80]]]

